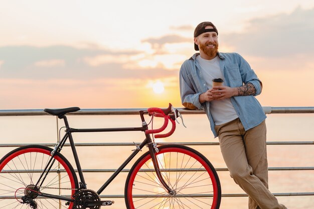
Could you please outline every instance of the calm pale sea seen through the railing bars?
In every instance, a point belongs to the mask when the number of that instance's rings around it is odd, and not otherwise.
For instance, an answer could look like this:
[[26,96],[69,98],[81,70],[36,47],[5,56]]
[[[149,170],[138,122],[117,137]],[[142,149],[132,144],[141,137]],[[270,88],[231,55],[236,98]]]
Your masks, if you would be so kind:
[[[218,142],[214,138],[209,121],[205,114],[183,115],[184,123],[177,124],[175,133],[156,142]],[[149,121],[149,118],[146,118]],[[105,127],[140,127],[139,115],[102,115],[102,116],[68,116],[73,128],[105,128]],[[153,123],[158,127],[161,121]],[[266,119],[268,142],[313,142],[314,114],[268,114]],[[1,144],[41,144],[56,143],[59,129],[64,126],[61,120],[54,116],[1,116],[0,143]],[[62,129],[63,130],[63,129]],[[64,134],[63,131],[60,132]],[[75,133],[76,143],[139,143],[144,139],[142,132],[106,132],[106,133]],[[204,154],[215,168],[225,168],[220,148],[217,145],[191,145]],[[13,150],[14,147],[1,147],[0,157]],[[97,146],[77,147],[83,169],[117,168],[134,149],[133,146]],[[146,151],[139,152],[138,157]],[[62,150],[70,162],[74,160],[69,147]],[[309,145],[268,145],[269,167],[314,167],[314,142]],[[127,165],[130,168],[133,161]],[[228,171],[218,171],[223,194],[243,194],[242,189],[233,181]],[[85,173],[85,181],[89,189],[98,188],[110,176],[110,173]],[[120,173],[116,179],[104,190],[104,195],[122,195],[127,173]],[[273,193],[314,192],[314,170],[283,170],[269,171],[269,190]],[[314,209],[314,196],[278,196],[279,203],[289,209]],[[114,209],[125,208],[123,198],[112,199],[115,203],[107,206]],[[221,209],[246,209],[248,197],[223,197]],[[1,204],[1,203],[0,203]],[[1,206],[1,205],[0,205]]]

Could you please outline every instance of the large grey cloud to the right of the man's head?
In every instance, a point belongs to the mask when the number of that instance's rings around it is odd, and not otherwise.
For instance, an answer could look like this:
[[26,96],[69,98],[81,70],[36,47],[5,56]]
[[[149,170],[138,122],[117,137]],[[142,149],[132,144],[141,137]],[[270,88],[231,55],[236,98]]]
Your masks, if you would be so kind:
[[314,8],[253,19],[243,33],[222,36],[237,52],[261,57],[314,54]]

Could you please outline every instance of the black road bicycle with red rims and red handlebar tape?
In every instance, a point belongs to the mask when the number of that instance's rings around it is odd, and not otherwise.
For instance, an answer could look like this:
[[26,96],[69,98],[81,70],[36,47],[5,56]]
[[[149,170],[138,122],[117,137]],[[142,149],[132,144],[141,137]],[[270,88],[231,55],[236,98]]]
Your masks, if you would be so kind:
[[[167,109],[139,111],[141,127],[130,128],[71,128],[66,114],[78,110],[79,107],[44,109],[64,120],[66,133],[60,142],[54,148],[42,145],[19,147],[0,160],[0,204],[3,205],[0,208],[85,209],[111,205],[114,201],[101,200],[100,193],[144,146],[148,147],[148,151],[137,159],[126,178],[124,199],[128,209],[219,208],[220,181],[210,161],[190,147],[175,144],[157,146],[154,142],[154,138],[168,137],[174,133],[178,117],[183,123],[180,112],[171,104]],[[148,124],[144,119],[147,114],[151,116]],[[148,129],[154,117],[163,117],[164,124],[158,129]],[[166,134],[156,134],[164,131],[169,121],[172,123],[171,130]],[[86,186],[72,133],[107,131],[142,131],[145,139],[139,145],[134,143],[136,148],[131,155],[95,192]],[[67,140],[78,176],[61,154]]]

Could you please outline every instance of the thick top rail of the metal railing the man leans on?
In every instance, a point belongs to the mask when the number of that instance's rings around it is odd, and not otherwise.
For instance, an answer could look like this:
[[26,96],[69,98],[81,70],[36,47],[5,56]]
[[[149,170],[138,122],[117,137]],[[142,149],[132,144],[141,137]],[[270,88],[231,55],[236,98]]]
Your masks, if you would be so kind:
[[[127,109],[81,109],[68,115],[138,115],[138,111],[147,108],[127,108]],[[182,114],[205,114],[203,110],[188,110],[177,108]],[[273,113],[314,113],[314,107],[269,107],[264,106],[266,114]],[[43,109],[21,109],[21,110],[0,110],[0,116],[35,116],[49,115]]]

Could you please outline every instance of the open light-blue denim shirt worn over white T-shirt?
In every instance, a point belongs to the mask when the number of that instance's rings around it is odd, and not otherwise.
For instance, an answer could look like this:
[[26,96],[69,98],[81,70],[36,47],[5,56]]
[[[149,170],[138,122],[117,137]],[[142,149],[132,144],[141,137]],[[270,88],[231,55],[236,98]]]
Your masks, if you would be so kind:
[[[210,102],[200,103],[200,94],[208,90],[204,77],[200,71],[200,66],[196,57],[193,55],[186,60],[180,69],[180,94],[183,106],[188,109],[204,109],[209,118],[211,130],[214,136],[218,134],[215,131],[215,123],[210,112]],[[249,130],[265,120],[266,115],[262,106],[255,96],[262,90],[262,83],[257,78],[250,65],[237,53],[218,53],[220,58],[219,65],[224,75],[224,85],[229,87],[240,87],[243,84],[251,83],[256,89],[256,94],[250,96],[231,97],[231,103],[241,120],[245,130]]]

